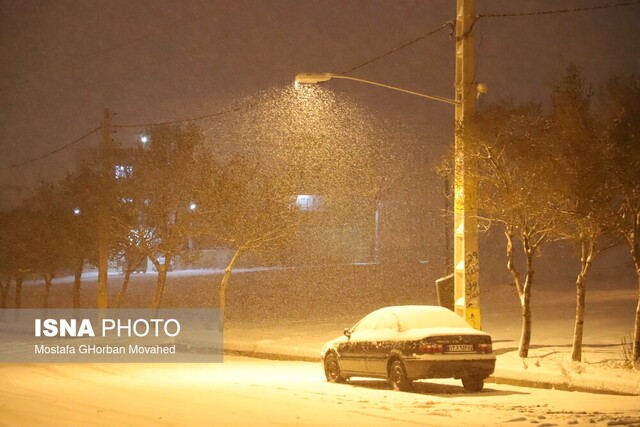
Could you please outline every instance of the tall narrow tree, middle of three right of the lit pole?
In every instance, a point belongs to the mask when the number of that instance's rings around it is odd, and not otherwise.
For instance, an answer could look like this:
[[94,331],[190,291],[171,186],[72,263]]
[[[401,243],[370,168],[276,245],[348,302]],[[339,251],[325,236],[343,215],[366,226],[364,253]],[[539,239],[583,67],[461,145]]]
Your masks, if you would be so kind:
[[609,144],[591,112],[592,90],[580,68],[569,65],[553,82],[550,137],[559,215],[555,233],[579,248],[580,271],[576,277],[576,316],[571,358],[582,359],[586,280],[594,259],[612,246],[603,242],[611,203],[606,158]]

